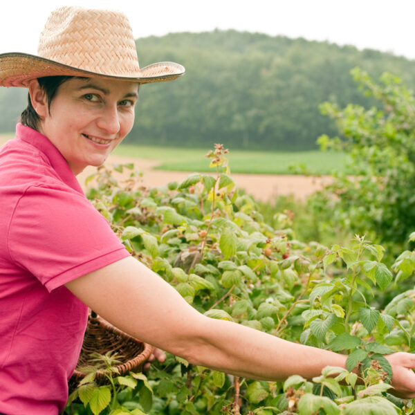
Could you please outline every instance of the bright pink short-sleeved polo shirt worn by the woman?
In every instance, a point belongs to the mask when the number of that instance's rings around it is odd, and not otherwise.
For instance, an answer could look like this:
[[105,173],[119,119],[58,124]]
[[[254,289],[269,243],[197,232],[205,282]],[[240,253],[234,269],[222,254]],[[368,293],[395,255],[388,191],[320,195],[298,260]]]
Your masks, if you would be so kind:
[[63,411],[87,316],[64,284],[127,256],[59,151],[18,124],[0,148],[0,413]]

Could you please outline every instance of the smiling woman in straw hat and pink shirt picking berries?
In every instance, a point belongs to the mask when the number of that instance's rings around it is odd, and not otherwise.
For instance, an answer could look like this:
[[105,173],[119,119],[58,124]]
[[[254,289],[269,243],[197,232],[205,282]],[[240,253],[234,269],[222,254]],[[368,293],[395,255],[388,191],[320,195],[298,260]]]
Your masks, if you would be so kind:
[[[127,19],[106,10],[59,8],[37,56],[0,55],[0,85],[29,91],[16,138],[0,150],[2,414],[62,412],[87,306],[136,338],[237,376],[312,378],[345,366],[338,353],[201,315],[129,255],[82,193],[75,176],[129,133],[139,85],[183,73],[171,62],[140,69]],[[387,359],[396,391],[415,396],[415,357]]]

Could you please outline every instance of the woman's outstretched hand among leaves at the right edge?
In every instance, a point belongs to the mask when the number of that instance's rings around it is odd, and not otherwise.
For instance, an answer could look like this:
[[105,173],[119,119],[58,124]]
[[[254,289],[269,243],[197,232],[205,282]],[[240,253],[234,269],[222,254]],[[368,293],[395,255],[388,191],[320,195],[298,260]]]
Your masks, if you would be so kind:
[[392,353],[385,356],[392,367],[391,394],[400,398],[415,398],[415,354]]

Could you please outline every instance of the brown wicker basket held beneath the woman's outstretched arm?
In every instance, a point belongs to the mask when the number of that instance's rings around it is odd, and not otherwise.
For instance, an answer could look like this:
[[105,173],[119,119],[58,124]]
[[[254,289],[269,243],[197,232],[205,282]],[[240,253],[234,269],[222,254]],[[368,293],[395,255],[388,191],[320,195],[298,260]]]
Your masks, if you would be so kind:
[[[86,376],[86,373],[80,369],[94,365],[91,353],[105,354],[107,351],[114,351],[121,356],[118,360],[122,360],[122,363],[115,366],[118,369],[118,374],[113,374],[113,376],[119,376],[127,374],[129,371],[141,371],[151,354],[152,347],[120,331],[91,311],[88,316],[80,358],[69,380],[69,391],[75,389],[80,380]],[[106,374],[108,375],[109,371],[97,373],[95,381],[100,385],[107,383]]]

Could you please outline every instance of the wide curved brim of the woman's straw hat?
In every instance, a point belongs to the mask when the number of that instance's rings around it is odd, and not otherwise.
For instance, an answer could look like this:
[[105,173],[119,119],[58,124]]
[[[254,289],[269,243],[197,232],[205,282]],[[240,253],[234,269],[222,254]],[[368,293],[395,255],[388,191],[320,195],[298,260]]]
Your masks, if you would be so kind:
[[185,73],[185,68],[175,62],[158,62],[141,68],[140,73],[132,76],[118,76],[84,71],[28,53],[0,54],[0,86],[27,87],[31,80],[38,77],[57,75],[102,77],[149,84],[176,80],[183,73]]

